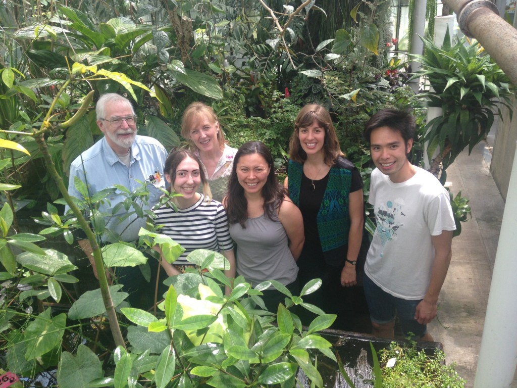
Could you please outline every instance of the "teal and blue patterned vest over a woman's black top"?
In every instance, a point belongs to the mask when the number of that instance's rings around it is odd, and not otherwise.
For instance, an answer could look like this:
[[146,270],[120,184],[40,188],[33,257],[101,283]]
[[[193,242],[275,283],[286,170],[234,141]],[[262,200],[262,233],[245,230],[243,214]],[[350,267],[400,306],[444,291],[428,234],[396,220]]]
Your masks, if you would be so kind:
[[[317,214],[317,228],[324,252],[348,244],[350,229],[348,195],[352,186],[353,168],[354,165],[351,162],[339,157],[330,169],[327,188]],[[287,171],[289,197],[296,206],[299,206],[303,165],[289,160]]]

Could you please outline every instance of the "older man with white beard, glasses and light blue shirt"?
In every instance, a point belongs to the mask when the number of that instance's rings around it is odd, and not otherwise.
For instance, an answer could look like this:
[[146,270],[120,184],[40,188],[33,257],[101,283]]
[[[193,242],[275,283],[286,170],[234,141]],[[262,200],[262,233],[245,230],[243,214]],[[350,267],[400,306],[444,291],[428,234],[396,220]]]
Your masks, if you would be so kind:
[[[73,197],[83,198],[75,187],[75,177],[84,182],[89,197],[114,185],[133,191],[145,182],[149,200],[141,205],[143,210],[150,209],[162,195],[159,187],[165,188],[165,148],[156,139],[136,135],[136,115],[127,98],[115,93],[104,94],[97,102],[96,113],[97,125],[104,137],[72,162],[68,192]],[[116,189],[100,205],[99,211],[111,215],[113,208],[125,199],[124,192]],[[127,211],[124,206],[119,206],[116,214],[106,217],[107,233],[101,237],[101,243],[136,241],[145,222],[145,218],[138,217],[132,209]],[[89,242],[80,240],[79,245],[93,264]],[[118,280],[125,284],[124,290],[136,291],[138,283],[143,280],[139,268],[123,267],[121,270]],[[97,276],[95,266],[94,273]]]

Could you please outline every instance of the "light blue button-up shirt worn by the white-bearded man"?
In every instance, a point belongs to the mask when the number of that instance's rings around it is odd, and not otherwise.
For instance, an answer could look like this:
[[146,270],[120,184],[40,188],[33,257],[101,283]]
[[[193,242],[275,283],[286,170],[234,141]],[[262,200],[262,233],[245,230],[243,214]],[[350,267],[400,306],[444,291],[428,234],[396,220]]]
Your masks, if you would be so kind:
[[[149,210],[162,195],[158,187],[165,188],[163,167],[166,157],[165,148],[158,140],[137,135],[131,145],[131,158],[127,167],[119,160],[106,139],[102,138],[72,162],[68,193],[83,199],[81,193],[75,188],[75,176],[86,184],[90,197],[100,190],[114,187],[115,184],[133,191],[142,185],[141,182],[145,182],[149,191],[149,200],[147,204],[141,203],[141,205],[143,210]],[[151,178],[153,178],[152,182]],[[99,211],[112,214],[113,208],[126,198],[123,191],[116,189],[101,203]],[[132,207],[126,210],[124,206],[119,206],[116,214],[106,217],[105,221],[106,229],[118,233],[121,240],[130,242],[138,240],[138,232],[141,227],[145,227],[146,219],[138,217]],[[102,237],[103,242],[114,242],[112,240],[109,233],[105,233]]]

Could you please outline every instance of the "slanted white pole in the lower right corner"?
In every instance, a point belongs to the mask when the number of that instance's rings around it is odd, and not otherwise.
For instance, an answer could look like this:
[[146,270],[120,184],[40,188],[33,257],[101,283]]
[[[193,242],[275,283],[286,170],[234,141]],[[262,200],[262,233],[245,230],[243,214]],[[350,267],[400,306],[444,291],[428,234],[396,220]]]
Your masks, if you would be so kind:
[[495,256],[474,388],[504,388],[517,366],[517,152]]

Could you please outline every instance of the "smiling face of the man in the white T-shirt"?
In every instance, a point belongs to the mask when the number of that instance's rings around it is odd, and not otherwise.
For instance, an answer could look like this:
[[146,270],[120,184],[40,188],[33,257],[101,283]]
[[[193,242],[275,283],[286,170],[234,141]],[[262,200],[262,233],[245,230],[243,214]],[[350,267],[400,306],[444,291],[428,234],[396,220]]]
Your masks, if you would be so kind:
[[411,151],[413,140],[404,141],[399,131],[389,127],[379,127],[370,135],[372,160],[391,182],[402,183],[414,175],[414,168],[406,155]]

